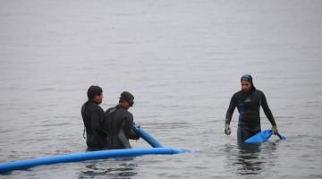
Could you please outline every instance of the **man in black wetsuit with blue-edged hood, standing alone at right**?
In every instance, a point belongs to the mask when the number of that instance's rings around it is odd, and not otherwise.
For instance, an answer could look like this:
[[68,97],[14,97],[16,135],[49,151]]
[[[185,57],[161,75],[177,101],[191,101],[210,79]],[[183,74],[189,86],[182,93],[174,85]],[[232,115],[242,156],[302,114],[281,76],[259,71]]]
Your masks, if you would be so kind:
[[277,127],[274,116],[270,111],[264,93],[256,90],[250,74],[244,74],[241,78],[242,90],[233,94],[225,117],[225,134],[231,133],[230,122],[232,120],[234,108],[237,107],[239,115],[237,138],[239,142],[245,141],[256,133],[260,132],[260,106],[272,124],[272,131],[277,134]]

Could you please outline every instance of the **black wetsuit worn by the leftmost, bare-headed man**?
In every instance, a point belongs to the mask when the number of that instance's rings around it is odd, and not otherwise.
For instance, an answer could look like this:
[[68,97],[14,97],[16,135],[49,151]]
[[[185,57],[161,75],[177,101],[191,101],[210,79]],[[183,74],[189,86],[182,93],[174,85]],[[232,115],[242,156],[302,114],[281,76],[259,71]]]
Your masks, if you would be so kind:
[[81,107],[81,116],[87,133],[88,150],[104,149],[107,137],[104,131],[104,110],[95,101],[89,99]]

